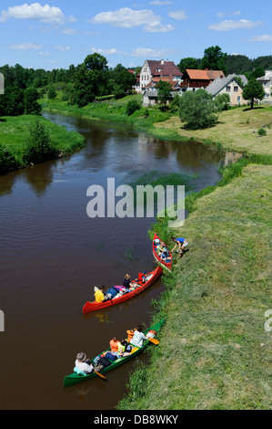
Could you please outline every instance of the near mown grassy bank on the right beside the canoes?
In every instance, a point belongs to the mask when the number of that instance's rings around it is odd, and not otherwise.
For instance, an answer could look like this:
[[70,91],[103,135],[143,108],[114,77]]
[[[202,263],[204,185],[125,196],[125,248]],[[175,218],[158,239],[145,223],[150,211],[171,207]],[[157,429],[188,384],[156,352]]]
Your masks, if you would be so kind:
[[[155,305],[155,318],[166,317],[160,344],[118,409],[271,408],[272,166],[247,162],[236,173],[186,202],[194,211],[177,235],[189,251]],[[155,229],[171,246],[166,222]]]

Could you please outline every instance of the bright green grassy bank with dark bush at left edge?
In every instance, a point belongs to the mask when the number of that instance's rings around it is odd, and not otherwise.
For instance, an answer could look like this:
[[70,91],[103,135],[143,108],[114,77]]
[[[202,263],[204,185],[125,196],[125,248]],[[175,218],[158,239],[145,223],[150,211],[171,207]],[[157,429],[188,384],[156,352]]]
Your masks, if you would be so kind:
[[[22,168],[27,165],[24,154],[29,132],[35,120],[45,127],[49,140],[54,148],[54,157],[65,156],[75,152],[85,144],[84,137],[76,131],[66,131],[65,127],[56,125],[50,120],[34,115],[2,117],[0,124],[0,171]],[[10,165],[9,163],[10,162]],[[4,168],[5,164],[5,168]]]

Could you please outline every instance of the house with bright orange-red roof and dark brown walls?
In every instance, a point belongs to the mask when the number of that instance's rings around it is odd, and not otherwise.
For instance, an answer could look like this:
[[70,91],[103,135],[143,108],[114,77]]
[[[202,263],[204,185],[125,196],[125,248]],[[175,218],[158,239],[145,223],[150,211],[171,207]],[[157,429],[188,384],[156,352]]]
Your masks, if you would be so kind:
[[186,71],[182,76],[180,88],[183,92],[186,90],[207,88],[207,86],[216,78],[225,78],[222,70],[199,70],[196,68],[186,68]]

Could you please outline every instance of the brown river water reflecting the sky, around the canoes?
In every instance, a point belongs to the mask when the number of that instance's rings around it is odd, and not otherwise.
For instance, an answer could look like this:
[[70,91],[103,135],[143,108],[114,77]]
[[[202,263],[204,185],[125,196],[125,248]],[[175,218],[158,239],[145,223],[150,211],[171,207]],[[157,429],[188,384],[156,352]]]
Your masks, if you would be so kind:
[[[152,218],[86,214],[88,186],[130,183],[143,173],[196,174],[196,190],[220,179],[220,155],[197,142],[159,141],[97,120],[45,118],[76,130],[86,146],[67,158],[0,176],[0,409],[114,410],[142,353],[106,373],[68,388],[78,351],[89,358],[139,323],[148,328],[160,278],[136,298],[84,315],[96,284],[122,284],[126,272],[156,265],[147,236]],[[151,346],[150,346],[151,347]],[[156,346],[152,346],[156,347]]]

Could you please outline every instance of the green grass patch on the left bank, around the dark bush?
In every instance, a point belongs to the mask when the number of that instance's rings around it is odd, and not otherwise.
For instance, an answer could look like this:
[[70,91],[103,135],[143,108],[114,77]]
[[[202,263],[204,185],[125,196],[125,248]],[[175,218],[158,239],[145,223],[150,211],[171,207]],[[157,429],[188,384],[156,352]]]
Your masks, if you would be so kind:
[[50,140],[53,141],[57,151],[62,156],[75,152],[84,146],[84,137],[78,132],[66,131],[65,127],[56,125],[43,117],[34,115],[2,117],[0,122],[0,144],[14,154],[17,166],[25,166],[23,162],[25,141],[29,127],[35,123],[36,118],[44,124]]

